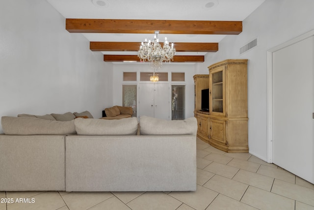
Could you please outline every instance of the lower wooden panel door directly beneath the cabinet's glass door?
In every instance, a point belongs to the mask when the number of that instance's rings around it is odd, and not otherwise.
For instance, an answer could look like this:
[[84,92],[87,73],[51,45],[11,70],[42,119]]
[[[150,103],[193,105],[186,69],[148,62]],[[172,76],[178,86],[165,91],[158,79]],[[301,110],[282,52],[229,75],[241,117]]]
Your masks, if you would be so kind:
[[210,119],[210,138],[226,144],[226,121]]

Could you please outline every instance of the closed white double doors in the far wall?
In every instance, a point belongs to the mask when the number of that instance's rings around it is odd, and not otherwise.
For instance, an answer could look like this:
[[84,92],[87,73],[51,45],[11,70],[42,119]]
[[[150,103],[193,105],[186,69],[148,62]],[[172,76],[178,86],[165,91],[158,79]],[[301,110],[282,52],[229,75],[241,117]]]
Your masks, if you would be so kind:
[[140,116],[169,119],[169,84],[140,83],[138,112]]

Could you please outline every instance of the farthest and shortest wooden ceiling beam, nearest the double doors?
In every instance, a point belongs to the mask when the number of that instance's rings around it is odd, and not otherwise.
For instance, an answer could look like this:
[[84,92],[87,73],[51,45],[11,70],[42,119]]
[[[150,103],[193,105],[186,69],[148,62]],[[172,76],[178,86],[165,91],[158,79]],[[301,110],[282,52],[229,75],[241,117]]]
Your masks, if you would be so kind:
[[[105,62],[136,61],[143,62],[133,55],[104,55]],[[204,56],[175,56],[171,62],[204,62]]]

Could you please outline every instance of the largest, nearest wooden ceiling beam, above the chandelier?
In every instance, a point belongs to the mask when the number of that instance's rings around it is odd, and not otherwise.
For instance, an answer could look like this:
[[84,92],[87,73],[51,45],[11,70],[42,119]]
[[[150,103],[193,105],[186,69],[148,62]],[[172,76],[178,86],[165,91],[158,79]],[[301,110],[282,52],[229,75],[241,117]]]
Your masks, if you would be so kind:
[[242,21],[66,19],[73,33],[239,34]]

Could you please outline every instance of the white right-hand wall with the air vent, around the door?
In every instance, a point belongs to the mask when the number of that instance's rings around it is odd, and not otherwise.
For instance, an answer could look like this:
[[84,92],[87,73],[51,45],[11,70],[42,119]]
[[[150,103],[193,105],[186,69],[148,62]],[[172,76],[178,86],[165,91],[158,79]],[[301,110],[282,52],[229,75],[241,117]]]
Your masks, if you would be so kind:
[[[313,8],[313,0],[265,0],[243,21],[243,31],[239,35],[224,38],[219,43],[219,51],[208,53],[205,62],[196,66],[197,73],[208,73],[207,66],[217,61],[249,59],[249,150],[263,160],[267,159],[266,52],[272,47],[313,30]],[[239,55],[240,47],[255,38],[258,38],[258,46]]]

